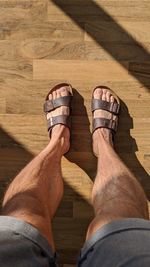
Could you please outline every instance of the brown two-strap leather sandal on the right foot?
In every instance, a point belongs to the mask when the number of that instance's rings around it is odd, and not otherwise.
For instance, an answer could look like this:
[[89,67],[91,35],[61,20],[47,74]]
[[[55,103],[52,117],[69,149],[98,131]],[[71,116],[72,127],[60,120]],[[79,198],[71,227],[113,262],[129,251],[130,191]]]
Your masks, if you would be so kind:
[[[94,91],[97,88],[102,88],[102,89],[107,89],[110,91],[110,93],[112,94],[112,96],[115,98],[115,101],[113,103],[111,102],[107,102],[104,100],[99,100],[99,99],[95,99],[93,97]],[[120,111],[120,100],[118,98],[118,96],[107,86],[96,86],[96,88],[93,90],[93,94],[92,94],[92,113],[94,114],[94,111],[97,109],[102,109],[102,110],[106,110],[108,112],[110,112],[113,115],[118,116],[119,115],[119,111]],[[93,129],[92,129],[92,134],[95,132],[96,129],[98,128],[107,128],[110,129],[112,131],[112,133],[116,133],[117,131],[117,127],[118,127],[118,119],[107,119],[107,118],[93,118]]]

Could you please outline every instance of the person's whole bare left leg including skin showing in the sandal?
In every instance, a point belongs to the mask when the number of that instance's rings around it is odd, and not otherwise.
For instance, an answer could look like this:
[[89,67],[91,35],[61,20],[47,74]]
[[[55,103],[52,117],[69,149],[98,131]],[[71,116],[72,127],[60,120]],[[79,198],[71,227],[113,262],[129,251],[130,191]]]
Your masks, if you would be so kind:
[[[61,88],[49,98],[68,94]],[[67,107],[60,107],[49,116],[67,114]],[[69,149],[69,129],[57,125],[52,130],[48,146],[34,158],[10,184],[2,205],[2,214],[22,219],[36,227],[55,250],[51,220],[63,195],[61,158]]]

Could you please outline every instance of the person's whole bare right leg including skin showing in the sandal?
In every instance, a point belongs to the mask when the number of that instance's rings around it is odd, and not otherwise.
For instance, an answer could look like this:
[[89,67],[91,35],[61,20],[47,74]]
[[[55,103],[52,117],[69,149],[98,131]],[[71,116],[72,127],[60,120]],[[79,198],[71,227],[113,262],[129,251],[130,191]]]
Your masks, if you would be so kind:
[[[114,101],[107,89],[97,89],[94,97]],[[102,110],[94,113],[95,117],[106,115],[110,116],[110,113]],[[93,150],[98,155],[97,175],[92,190],[95,218],[88,228],[86,239],[113,220],[149,218],[144,191],[114,151],[110,130],[101,128],[94,132]]]

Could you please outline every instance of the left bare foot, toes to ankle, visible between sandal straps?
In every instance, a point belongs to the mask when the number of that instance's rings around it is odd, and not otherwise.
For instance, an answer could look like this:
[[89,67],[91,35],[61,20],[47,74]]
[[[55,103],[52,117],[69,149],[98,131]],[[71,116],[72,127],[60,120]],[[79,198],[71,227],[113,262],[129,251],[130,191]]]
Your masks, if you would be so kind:
[[[69,95],[67,86],[60,87],[49,94],[49,100]],[[69,115],[69,107],[61,106],[47,114],[47,119],[59,115]],[[65,154],[70,148],[70,130],[62,124],[55,125],[51,132],[51,142],[58,143],[62,154]]]

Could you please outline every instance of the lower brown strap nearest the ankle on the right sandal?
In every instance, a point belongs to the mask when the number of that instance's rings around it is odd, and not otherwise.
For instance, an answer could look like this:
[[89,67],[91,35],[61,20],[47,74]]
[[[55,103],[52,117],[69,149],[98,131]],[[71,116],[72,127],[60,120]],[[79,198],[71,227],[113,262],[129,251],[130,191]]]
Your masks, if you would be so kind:
[[117,126],[118,126],[118,120],[109,120],[106,118],[93,119],[93,132],[98,128],[107,128],[116,133]]

